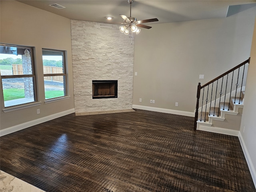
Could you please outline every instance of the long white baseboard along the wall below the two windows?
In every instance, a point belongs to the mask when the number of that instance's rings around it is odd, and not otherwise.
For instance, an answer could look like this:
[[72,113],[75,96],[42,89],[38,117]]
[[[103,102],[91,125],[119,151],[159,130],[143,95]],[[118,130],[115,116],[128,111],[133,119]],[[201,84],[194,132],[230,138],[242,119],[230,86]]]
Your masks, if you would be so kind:
[[4,135],[10,134],[10,133],[14,133],[16,131],[19,131],[19,130],[22,130],[22,129],[25,129],[25,128],[28,128],[28,127],[46,122],[46,121],[50,121],[50,120],[53,120],[53,119],[56,119],[56,118],[74,113],[74,112],[75,112],[75,109],[73,108],[73,109],[62,111],[62,112],[52,114],[52,115],[49,115],[49,116],[46,116],[46,117],[35,119],[35,120],[29,121],[29,122],[26,122],[26,123],[15,125],[15,126],[0,130],[0,136],[4,136]]

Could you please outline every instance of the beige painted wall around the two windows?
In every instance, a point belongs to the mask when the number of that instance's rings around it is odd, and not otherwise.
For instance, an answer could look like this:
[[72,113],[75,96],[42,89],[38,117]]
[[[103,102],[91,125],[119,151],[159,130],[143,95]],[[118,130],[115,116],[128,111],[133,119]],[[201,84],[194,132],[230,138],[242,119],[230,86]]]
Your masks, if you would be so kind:
[[[0,42],[35,47],[37,95],[38,101],[42,102],[40,106],[4,113],[4,100],[0,88],[0,129],[74,110],[70,19],[17,1],[0,1],[0,3]],[[44,103],[42,48],[67,51],[69,99]],[[40,109],[40,114],[36,114],[37,109]]]

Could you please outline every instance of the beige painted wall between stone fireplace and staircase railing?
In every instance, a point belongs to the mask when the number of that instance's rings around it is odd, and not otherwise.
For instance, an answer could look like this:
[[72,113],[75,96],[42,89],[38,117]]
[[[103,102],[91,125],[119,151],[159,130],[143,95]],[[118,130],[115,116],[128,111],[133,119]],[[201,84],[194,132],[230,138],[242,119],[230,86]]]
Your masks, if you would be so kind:
[[134,45],[138,76],[133,104],[194,112],[198,82],[204,84],[249,58],[255,15],[253,7],[228,18],[142,29]]

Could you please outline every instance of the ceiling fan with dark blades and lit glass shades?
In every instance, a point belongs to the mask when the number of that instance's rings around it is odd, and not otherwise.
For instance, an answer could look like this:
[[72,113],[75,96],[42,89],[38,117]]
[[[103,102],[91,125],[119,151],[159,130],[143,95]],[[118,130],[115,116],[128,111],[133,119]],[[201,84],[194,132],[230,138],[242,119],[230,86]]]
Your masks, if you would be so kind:
[[119,30],[120,30],[120,32],[122,32],[122,33],[124,33],[126,35],[129,34],[130,29],[131,29],[132,32],[134,32],[136,34],[139,34],[140,33],[140,28],[138,28],[138,27],[142,27],[142,28],[146,28],[146,29],[152,28],[152,27],[144,25],[142,23],[158,21],[157,18],[137,21],[137,19],[135,17],[131,16],[132,3],[133,2],[134,2],[134,0],[128,0],[128,3],[130,4],[130,17],[127,17],[125,15],[121,15],[120,14],[120,16],[124,19],[124,23],[120,23],[120,24],[125,24],[125,25],[124,26],[120,26]]

